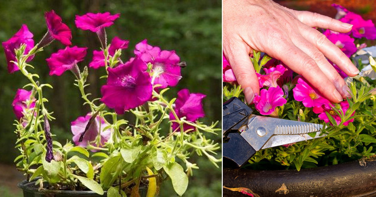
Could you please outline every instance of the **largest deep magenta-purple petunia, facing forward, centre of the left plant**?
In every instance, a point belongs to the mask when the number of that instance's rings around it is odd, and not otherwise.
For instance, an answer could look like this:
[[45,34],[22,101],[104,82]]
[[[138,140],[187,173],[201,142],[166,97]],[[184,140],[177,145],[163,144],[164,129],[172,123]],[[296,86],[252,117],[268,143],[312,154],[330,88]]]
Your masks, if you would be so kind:
[[144,104],[152,97],[153,89],[146,69],[146,63],[139,57],[108,68],[107,84],[101,88],[101,101],[118,114]]

